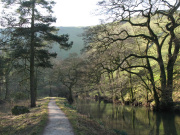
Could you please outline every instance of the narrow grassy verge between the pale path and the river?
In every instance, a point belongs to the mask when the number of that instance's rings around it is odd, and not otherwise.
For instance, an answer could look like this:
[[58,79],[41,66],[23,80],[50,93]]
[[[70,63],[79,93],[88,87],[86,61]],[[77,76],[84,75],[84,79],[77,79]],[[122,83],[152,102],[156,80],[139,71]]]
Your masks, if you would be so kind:
[[113,131],[106,129],[100,122],[90,119],[75,110],[64,98],[56,98],[56,104],[68,117],[75,135],[116,135]]

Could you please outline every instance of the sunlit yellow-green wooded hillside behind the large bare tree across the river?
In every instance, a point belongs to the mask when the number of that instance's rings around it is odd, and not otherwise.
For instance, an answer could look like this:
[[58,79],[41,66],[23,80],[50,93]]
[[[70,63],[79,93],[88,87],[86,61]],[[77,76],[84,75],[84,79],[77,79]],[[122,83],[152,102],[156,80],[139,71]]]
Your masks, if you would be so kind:
[[[118,99],[124,104],[125,101],[133,103],[137,100],[145,106],[165,106],[163,109],[180,101],[180,59],[172,57],[179,56],[180,27],[174,27],[172,33],[176,35],[176,40],[173,41],[170,40],[173,39],[168,31],[170,29],[162,31],[168,17],[154,15],[150,22],[144,18],[132,17],[133,23],[114,22],[88,29],[86,38],[91,38],[87,55],[92,58],[89,62],[92,66],[91,74],[98,78],[96,73],[103,73],[98,83],[92,81],[94,91],[90,92],[90,96],[96,95],[105,100],[109,97],[108,102],[116,102]],[[146,23],[149,23],[149,27],[141,27],[141,24]],[[149,34],[151,32],[154,35]]]

